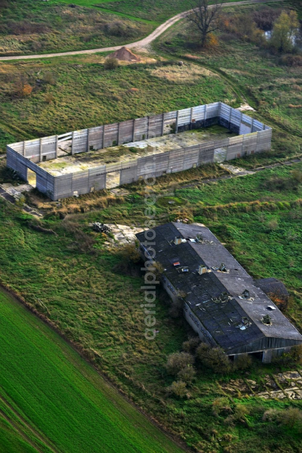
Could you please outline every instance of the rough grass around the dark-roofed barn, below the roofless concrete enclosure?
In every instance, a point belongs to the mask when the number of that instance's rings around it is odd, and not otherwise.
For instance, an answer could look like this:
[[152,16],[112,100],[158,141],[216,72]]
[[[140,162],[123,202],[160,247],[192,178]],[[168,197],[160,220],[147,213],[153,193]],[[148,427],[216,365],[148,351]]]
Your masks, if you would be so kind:
[[[204,222],[254,277],[281,278],[292,294],[286,313],[301,328],[298,244],[302,212],[297,199],[302,193],[301,185],[296,183],[299,169],[301,164],[205,187],[195,182],[191,188],[177,187],[177,175],[172,175],[174,182],[169,181],[169,176],[161,178],[155,190],[163,195],[156,203],[157,222],[181,216]],[[285,184],[285,188],[280,190],[279,184]],[[166,357],[181,350],[182,342],[192,333],[182,318],[170,318],[170,304],[164,295],[158,294],[156,326],[160,333],[156,340],[146,344],[139,270],[134,268],[129,275],[129,270],[120,269],[123,259],[120,251],[104,248],[105,237],[93,233],[88,226],[94,220],[129,225],[144,222],[144,188],[139,185],[127,188],[128,196],[111,197],[104,209],[74,214],[64,220],[48,216],[43,225],[57,231],[58,236],[33,231],[28,226],[29,216],[2,202],[1,280],[47,314],[37,297],[41,299],[49,318],[85,348],[96,366],[189,445],[220,452],[218,438],[222,437],[229,439],[224,445],[232,452],[270,452],[276,448],[272,432],[277,430],[279,445],[297,452],[299,440],[295,429],[288,432],[261,419],[264,410],[299,407],[299,401],[244,398],[239,394],[232,404],[249,412],[249,424],[229,425],[225,424],[225,417],[217,418],[211,410],[213,400],[225,396],[217,386],[220,376],[200,369],[197,381],[188,389],[191,395],[188,400],[167,393],[172,378],[164,369]],[[86,198],[89,200],[89,196]],[[262,382],[266,374],[278,370],[279,367],[255,363],[248,377]],[[244,375],[237,372],[227,379],[230,377]],[[246,450],[247,444],[253,445],[253,449]]]

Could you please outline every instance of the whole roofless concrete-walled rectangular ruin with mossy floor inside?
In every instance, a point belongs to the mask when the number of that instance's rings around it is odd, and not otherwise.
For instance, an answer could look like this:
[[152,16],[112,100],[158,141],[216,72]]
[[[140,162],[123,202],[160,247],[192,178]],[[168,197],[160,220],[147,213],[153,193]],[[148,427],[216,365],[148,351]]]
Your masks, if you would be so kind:
[[[213,131],[214,125],[223,128]],[[138,181],[146,167],[158,177],[260,153],[270,149],[271,137],[261,121],[214,102],[12,143],[7,166],[58,200]]]

